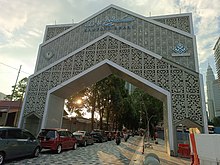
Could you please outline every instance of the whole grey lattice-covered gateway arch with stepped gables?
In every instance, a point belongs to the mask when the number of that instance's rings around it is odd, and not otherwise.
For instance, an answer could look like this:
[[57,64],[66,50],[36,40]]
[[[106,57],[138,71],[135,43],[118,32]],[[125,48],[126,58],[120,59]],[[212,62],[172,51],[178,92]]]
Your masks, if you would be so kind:
[[61,127],[64,99],[116,74],[163,101],[167,151],[175,127],[207,132],[191,14],[144,17],[110,5],[71,25],[47,26],[19,127]]

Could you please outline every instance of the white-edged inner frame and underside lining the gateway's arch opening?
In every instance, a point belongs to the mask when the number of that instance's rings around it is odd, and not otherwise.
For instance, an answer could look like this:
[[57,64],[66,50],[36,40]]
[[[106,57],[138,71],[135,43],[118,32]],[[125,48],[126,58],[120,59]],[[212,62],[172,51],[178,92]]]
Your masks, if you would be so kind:
[[95,82],[102,80],[103,78],[115,74],[121,79],[134,84],[138,88],[141,88],[149,95],[157,98],[163,102],[164,115],[164,132],[166,149],[170,154],[170,151],[174,150],[174,137],[173,137],[173,125],[172,125],[172,111],[171,111],[171,95],[170,92],[163,88],[153,84],[152,82],[139,77],[138,75],[126,70],[125,68],[109,61],[104,60],[86,71],[78,74],[77,76],[69,79],[68,81],[61,83],[59,86],[51,89],[47,93],[47,102],[44,110],[41,128],[47,127],[61,127],[64,100],[72,93],[78,92],[83,88],[91,86]]

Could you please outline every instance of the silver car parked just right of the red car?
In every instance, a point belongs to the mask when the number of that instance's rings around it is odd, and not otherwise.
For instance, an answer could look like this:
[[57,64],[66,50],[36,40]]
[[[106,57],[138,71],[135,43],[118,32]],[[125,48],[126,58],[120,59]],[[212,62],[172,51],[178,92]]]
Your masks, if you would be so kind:
[[93,137],[87,131],[76,131],[73,135],[77,139],[77,143],[86,147],[88,144],[94,144]]

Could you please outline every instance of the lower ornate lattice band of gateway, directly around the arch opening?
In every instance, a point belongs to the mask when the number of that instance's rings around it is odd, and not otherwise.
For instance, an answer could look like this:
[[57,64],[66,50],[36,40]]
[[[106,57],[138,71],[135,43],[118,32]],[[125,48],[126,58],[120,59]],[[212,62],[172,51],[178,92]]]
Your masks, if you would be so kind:
[[172,94],[173,122],[185,118],[203,125],[199,74],[171,62],[158,59],[112,36],[106,36],[85,49],[30,79],[24,116],[43,116],[47,91],[76,76],[104,59],[147,79]]

